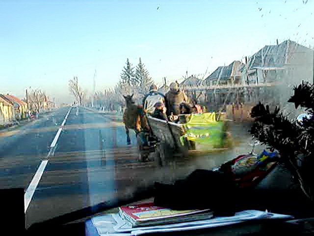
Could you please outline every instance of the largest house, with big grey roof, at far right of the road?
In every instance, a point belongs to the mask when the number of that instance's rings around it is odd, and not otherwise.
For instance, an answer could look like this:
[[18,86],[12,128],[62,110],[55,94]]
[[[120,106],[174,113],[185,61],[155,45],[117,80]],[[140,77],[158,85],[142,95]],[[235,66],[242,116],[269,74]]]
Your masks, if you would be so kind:
[[296,83],[312,81],[313,50],[291,40],[266,45],[249,57],[241,73],[242,83],[245,84],[278,82],[289,78]]

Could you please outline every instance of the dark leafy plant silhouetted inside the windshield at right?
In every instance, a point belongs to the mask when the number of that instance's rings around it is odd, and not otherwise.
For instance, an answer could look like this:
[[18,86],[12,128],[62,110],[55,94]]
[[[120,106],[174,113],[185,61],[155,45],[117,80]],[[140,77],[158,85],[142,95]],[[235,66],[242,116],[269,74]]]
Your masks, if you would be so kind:
[[303,192],[314,199],[314,85],[302,82],[294,87],[294,95],[288,100],[295,108],[303,107],[310,115],[301,125],[290,121],[278,107],[274,111],[262,103],[252,108],[251,116],[255,123],[251,134],[268,146],[270,150],[280,153],[280,160],[287,166]]

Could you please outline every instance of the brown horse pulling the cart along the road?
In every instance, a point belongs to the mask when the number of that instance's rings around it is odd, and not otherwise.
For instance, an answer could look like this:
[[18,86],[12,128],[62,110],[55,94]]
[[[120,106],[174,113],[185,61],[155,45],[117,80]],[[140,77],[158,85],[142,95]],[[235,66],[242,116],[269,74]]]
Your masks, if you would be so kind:
[[130,131],[132,129],[138,135],[142,130],[149,130],[146,116],[143,111],[143,106],[136,105],[133,100],[133,94],[123,96],[126,100],[126,109],[123,113],[123,123],[125,124],[127,133],[127,144],[131,144]]

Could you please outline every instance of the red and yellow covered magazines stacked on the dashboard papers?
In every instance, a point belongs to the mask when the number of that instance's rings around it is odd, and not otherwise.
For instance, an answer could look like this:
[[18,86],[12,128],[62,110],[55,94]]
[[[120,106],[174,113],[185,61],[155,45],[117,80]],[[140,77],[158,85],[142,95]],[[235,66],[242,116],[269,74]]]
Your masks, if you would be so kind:
[[185,216],[185,215],[209,211],[209,209],[172,210],[168,208],[154,206],[153,202],[120,207],[119,210],[122,211],[124,214],[129,215],[131,218],[133,218],[136,221],[146,221],[146,220],[163,219],[163,218],[170,218],[170,217],[176,217],[176,216]]

